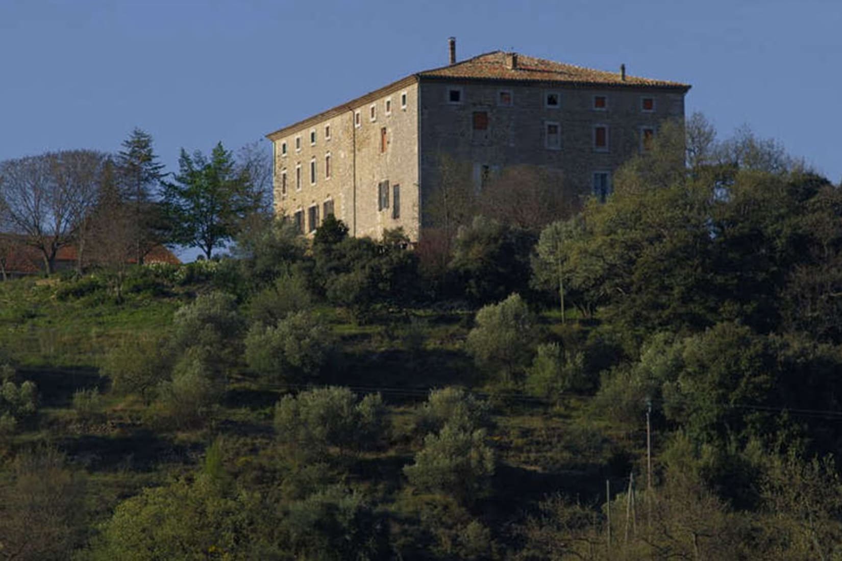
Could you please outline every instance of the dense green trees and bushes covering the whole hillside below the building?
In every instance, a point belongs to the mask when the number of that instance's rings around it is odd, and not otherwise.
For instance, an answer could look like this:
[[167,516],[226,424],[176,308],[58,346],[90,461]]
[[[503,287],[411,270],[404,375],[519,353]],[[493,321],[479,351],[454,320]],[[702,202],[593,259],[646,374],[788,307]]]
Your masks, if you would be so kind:
[[839,558],[842,186],[695,117],[614,187],[0,283],[0,558]]

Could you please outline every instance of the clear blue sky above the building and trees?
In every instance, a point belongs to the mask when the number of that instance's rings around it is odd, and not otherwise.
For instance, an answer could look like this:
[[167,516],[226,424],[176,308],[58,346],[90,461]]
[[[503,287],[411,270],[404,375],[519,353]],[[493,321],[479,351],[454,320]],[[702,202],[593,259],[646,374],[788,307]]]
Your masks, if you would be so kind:
[[[839,0],[0,0],[0,160],[116,151],[152,134],[236,149],[387,82],[518,52],[688,82],[690,114],[742,124],[842,179]],[[268,142],[268,140],[264,140]]]

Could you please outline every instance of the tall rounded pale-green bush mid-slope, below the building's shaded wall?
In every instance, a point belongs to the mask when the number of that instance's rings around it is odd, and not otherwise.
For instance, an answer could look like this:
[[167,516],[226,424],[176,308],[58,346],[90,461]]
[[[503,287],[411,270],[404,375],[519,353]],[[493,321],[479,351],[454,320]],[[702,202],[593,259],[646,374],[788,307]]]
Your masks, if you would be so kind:
[[529,365],[538,337],[537,318],[518,294],[477,312],[466,350],[477,367],[510,381]]

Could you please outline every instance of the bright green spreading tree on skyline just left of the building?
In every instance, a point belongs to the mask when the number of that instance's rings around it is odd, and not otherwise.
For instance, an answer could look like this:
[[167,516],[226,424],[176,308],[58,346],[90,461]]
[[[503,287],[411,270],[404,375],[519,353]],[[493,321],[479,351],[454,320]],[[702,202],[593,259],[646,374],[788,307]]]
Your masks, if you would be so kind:
[[162,183],[171,241],[199,247],[207,259],[237,235],[248,214],[259,209],[248,172],[237,168],[221,142],[210,158],[200,151],[191,156],[182,149],[174,179]]

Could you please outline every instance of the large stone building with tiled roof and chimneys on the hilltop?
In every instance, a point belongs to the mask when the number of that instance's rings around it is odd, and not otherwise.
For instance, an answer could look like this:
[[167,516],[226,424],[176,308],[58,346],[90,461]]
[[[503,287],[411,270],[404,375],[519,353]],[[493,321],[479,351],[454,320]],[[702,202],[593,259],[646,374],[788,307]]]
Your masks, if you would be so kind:
[[494,51],[421,71],[268,135],[278,214],[312,232],[335,214],[354,236],[429,224],[442,162],[481,193],[507,167],[559,172],[569,197],[610,192],[611,174],[683,119],[689,85]]

